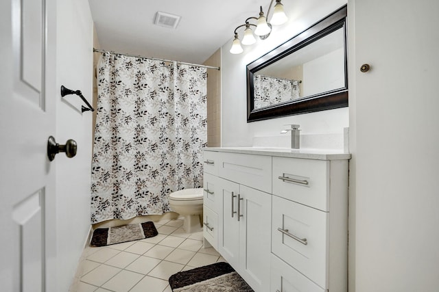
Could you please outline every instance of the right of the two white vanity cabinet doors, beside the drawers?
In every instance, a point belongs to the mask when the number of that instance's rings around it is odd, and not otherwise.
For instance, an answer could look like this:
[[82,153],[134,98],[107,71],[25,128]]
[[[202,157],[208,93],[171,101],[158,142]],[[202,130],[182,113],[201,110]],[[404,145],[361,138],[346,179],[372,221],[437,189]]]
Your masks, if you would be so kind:
[[239,274],[255,291],[269,291],[271,195],[240,185],[239,198]]

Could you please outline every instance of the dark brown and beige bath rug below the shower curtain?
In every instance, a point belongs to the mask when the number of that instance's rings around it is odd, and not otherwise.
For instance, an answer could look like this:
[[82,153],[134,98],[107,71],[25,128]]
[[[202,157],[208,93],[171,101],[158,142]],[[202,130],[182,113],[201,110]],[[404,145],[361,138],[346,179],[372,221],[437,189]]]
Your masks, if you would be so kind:
[[154,237],[156,235],[158,235],[158,231],[152,222],[110,228],[96,228],[93,230],[90,244],[93,246],[104,246]]

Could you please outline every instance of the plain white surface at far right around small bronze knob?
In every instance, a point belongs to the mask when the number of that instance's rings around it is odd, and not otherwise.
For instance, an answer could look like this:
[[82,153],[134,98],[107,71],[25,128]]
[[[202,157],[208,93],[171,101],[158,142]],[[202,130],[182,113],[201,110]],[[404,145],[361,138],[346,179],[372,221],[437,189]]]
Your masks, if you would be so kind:
[[439,2],[348,7],[350,291],[436,292]]

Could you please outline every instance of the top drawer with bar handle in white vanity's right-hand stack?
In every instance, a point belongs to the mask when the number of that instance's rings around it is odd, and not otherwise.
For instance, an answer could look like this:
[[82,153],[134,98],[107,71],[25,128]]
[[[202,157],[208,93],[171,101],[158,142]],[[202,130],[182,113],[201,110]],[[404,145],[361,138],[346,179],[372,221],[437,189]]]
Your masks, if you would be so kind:
[[273,157],[273,194],[329,211],[329,161]]

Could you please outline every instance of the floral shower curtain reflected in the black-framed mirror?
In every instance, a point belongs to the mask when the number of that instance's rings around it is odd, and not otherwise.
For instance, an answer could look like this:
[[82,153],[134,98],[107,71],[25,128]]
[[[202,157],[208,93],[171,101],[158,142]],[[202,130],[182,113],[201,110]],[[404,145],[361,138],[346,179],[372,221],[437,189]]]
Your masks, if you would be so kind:
[[254,75],[254,109],[299,98],[299,81]]

